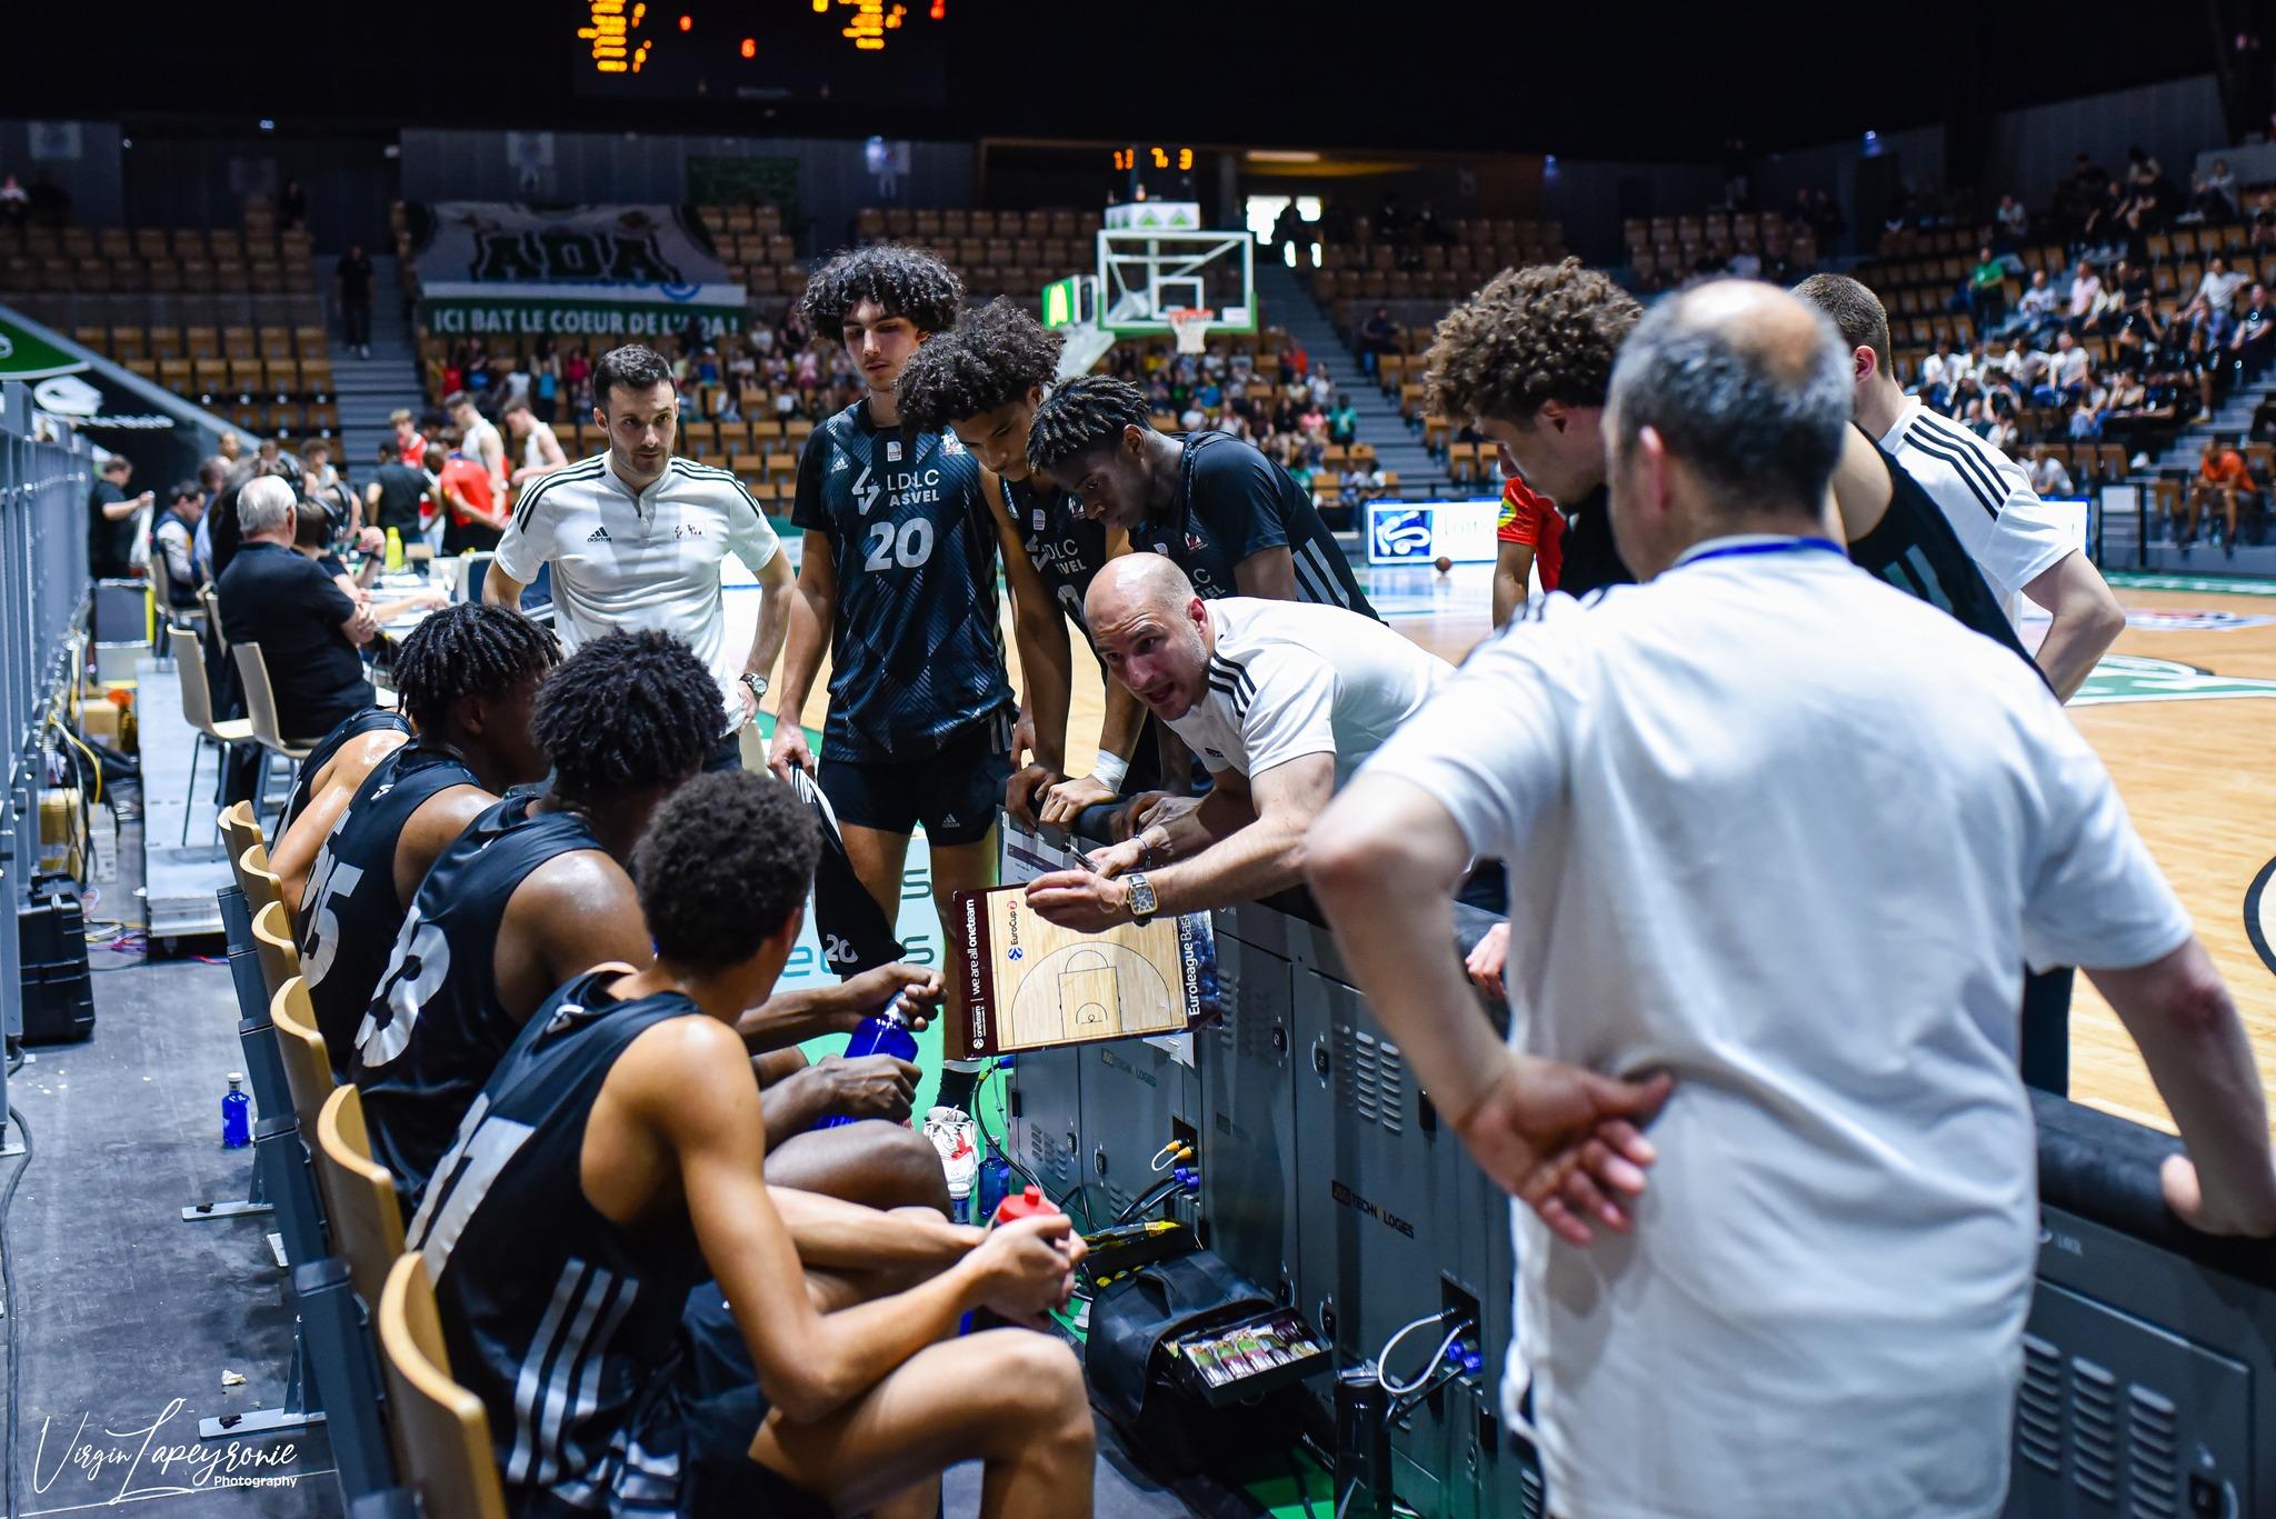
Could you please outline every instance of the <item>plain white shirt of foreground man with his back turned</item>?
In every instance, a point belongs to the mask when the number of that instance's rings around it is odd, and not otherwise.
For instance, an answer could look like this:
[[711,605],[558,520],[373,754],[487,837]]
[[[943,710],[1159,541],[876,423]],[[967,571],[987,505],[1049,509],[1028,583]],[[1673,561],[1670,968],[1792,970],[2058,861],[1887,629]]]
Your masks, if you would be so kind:
[[1996,1514],[2023,963],[2190,936],[2046,683],[1796,542],[1536,599],[1370,761],[1509,861],[1511,1043],[1675,1077],[1632,1234],[1514,1207],[1502,1401],[1568,1519]]

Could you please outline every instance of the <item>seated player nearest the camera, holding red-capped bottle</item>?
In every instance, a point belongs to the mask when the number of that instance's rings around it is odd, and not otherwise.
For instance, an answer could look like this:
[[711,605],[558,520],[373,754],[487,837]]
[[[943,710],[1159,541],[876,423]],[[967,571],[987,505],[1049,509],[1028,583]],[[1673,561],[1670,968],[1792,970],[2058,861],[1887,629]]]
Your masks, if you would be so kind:
[[806,1198],[849,1243],[935,1248],[828,1271],[810,1246],[801,1271],[778,1212],[797,1193],[760,1180],[735,1025],[797,943],[815,849],[769,777],[665,802],[633,852],[655,963],[580,975],[530,1018],[412,1218],[514,1514],[917,1519],[960,1460],[983,1462],[981,1514],[1092,1510],[1067,1346],[954,1337],[974,1307],[1033,1323],[1065,1305],[1083,1250],[1063,1216],[981,1234]]

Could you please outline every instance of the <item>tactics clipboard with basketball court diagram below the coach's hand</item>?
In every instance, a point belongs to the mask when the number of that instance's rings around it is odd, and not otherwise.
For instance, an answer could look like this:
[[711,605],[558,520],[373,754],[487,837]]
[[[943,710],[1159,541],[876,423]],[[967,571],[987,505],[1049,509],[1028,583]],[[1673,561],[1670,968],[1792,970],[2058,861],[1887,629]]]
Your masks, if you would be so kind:
[[1024,886],[960,890],[954,909],[965,1007],[949,1059],[1184,1034],[1213,1000],[1202,915],[1083,934],[1029,911]]

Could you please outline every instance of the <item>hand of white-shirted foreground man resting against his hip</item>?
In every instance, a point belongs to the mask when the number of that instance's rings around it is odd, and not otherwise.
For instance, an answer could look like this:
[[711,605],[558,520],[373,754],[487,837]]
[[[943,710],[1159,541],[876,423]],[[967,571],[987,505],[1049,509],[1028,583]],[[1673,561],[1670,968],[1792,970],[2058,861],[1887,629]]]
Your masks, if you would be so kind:
[[1636,1123],[1668,1100],[1673,1077],[1623,1082],[1532,1054],[1507,1057],[1484,1100],[1454,1120],[1479,1168],[1523,1200],[1559,1239],[1625,1234],[1659,1159]]

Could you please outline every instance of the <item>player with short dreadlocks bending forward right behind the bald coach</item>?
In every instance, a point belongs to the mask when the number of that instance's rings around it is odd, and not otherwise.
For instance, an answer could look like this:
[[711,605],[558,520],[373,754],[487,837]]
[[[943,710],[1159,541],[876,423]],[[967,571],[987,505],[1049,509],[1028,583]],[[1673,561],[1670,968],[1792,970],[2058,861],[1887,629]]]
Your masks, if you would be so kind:
[[1061,385],[1036,408],[1026,462],[1074,492],[1086,517],[1129,533],[1133,549],[1174,560],[1204,599],[1318,601],[1375,617],[1286,469],[1231,433],[1156,433],[1129,380]]

